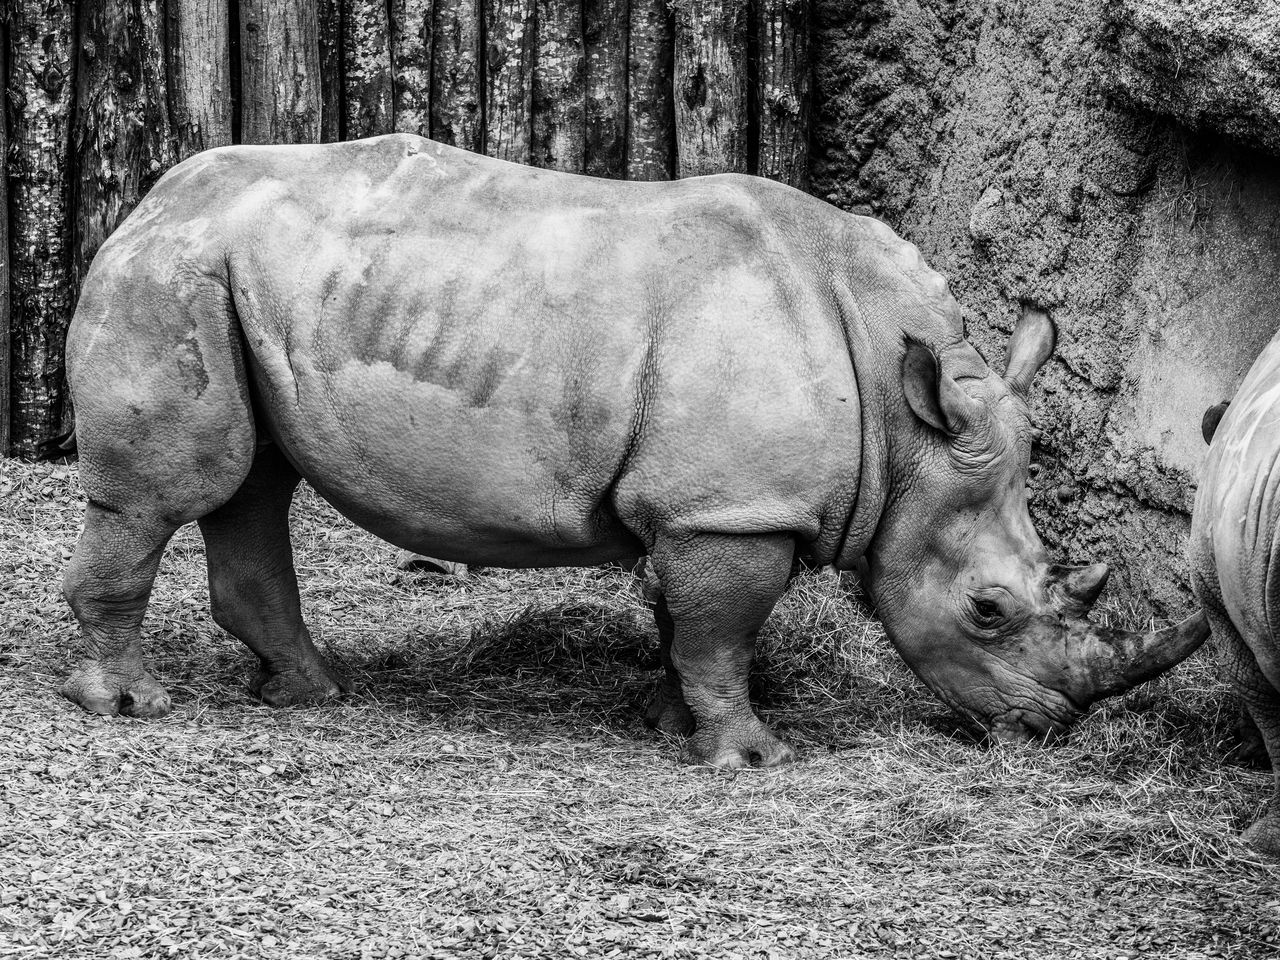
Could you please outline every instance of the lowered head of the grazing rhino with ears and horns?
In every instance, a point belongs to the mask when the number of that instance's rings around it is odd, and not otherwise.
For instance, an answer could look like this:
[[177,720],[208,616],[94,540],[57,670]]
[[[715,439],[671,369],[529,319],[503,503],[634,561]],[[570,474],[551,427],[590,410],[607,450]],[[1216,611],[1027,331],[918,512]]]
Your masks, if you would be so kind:
[[1051,564],[1027,509],[1027,392],[1053,351],[1047,316],[1014,330],[1004,378],[968,343],[908,342],[915,424],[891,456],[893,494],[868,552],[869,586],[902,658],[997,740],[1052,739],[1093,701],[1190,654],[1203,617],[1151,634],[1089,623],[1105,563]]

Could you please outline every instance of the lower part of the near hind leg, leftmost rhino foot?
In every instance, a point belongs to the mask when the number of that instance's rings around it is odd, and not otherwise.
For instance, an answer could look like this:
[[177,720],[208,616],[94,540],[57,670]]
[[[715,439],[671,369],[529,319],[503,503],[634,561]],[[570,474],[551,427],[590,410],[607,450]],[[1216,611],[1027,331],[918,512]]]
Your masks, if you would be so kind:
[[142,663],[138,639],[160,554],[177,526],[90,500],[84,530],[63,577],[79,621],[84,660],[61,694],[90,713],[160,717],[169,694]]

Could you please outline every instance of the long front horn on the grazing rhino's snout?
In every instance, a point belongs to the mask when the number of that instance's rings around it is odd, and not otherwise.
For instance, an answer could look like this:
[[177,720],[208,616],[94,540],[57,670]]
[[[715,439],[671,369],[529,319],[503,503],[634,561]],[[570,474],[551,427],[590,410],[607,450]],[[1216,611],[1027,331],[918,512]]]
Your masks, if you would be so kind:
[[1085,636],[1080,637],[1076,649],[1084,655],[1091,700],[1123,694],[1164,673],[1208,639],[1208,620],[1203,613],[1146,634],[1092,623],[1082,626]]

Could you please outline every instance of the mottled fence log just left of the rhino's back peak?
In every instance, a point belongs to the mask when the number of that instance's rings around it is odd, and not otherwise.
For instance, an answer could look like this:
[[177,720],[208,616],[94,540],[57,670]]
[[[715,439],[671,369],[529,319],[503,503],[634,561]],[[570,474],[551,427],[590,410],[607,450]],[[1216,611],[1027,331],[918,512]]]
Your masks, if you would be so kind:
[[390,133],[392,49],[387,0],[343,0],[343,140]]

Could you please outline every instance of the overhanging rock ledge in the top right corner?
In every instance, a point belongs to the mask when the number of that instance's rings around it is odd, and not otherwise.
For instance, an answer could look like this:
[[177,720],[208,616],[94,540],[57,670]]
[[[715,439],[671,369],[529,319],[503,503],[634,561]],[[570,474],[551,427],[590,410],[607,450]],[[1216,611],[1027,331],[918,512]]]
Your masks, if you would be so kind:
[[1108,0],[1103,19],[1115,91],[1280,154],[1277,0]]

